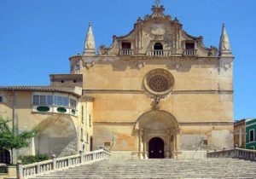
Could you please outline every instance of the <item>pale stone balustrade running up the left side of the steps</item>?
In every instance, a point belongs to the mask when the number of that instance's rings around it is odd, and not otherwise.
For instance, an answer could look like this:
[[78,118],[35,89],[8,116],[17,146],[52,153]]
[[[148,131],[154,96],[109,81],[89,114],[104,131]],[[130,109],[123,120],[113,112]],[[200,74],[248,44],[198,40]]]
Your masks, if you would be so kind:
[[17,178],[26,179],[32,176],[38,176],[45,173],[49,173],[54,170],[67,169],[68,167],[90,164],[95,161],[108,159],[110,152],[104,148],[96,150],[90,153],[80,153],[77,155],[71,155],[67,157],[55,158],[45,160],[29,165],[17,165]]

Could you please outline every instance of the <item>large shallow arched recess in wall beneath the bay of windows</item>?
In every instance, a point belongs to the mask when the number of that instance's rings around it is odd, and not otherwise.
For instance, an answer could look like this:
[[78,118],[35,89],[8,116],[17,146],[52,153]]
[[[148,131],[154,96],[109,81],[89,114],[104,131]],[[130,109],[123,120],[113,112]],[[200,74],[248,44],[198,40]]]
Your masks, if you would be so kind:
[[67,156],[78,153],[78,135],[73,119],[58,114],[45,118],[38,124],[40,133],[35,137],[36,153],[49,156]]

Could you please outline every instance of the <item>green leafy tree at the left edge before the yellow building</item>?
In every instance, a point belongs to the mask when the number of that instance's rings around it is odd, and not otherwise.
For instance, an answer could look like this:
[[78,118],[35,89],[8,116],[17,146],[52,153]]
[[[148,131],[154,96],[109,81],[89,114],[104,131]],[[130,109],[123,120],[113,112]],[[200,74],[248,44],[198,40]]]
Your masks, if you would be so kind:
[[38,136],[39,130],[25,130],[19,134],[16,126],[9,126],[9,121],[0,116],[0,150],[10,150],[13,163],[13,150],[28,147],[29,139]]

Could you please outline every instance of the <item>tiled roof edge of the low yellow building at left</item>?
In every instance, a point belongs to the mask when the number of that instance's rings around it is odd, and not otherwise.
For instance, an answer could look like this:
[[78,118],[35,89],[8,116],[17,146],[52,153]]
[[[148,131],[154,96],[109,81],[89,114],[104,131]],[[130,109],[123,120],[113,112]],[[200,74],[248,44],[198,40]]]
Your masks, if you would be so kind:
[[29,90],[29,91],[48,91],[68,93],[76,96],[82,95],[82,89],[79,87],[53,87],[53,86],[0,86],[0,90]]

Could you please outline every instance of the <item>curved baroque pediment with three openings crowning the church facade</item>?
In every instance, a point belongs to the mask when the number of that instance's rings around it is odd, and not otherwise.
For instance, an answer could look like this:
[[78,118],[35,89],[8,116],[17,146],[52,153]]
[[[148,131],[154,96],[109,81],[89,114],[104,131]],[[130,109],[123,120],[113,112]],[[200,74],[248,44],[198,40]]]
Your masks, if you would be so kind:
[[110,47],[101,46],[99,55],[154,55],[162,56],[217,56],[217,48],[207,48],[202,37],[183,31],[183,25],[171,15],[164,14],[163,6],[153,6],[152,14],[138,18],[125,36],[113,36]]

